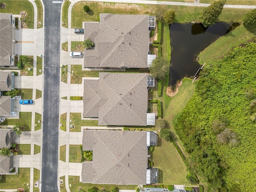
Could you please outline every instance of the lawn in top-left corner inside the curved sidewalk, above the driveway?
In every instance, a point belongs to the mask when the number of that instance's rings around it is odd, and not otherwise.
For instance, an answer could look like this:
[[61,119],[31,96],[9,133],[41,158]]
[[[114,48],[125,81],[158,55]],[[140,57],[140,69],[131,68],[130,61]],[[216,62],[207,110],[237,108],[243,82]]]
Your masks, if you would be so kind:
[[19,15],[21,11],[26,11],[26,26],[29,29],[34,28],[34,8],[28,0],[0,0],[0,3],[6,4],[6,8],[0,9],[1,13],[12,13]]

